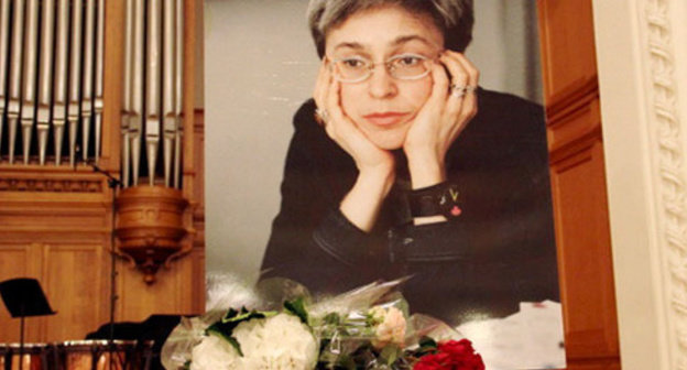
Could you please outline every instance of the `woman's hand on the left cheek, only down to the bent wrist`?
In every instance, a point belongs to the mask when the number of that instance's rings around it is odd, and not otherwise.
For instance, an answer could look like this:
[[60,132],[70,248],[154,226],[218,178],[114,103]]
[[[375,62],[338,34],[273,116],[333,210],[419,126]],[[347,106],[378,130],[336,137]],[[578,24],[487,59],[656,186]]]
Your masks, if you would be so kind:
[[320,124],[324,126],[327,135],[353,159],[361,173],[389,174],[394,170],[393,155],[372,143],[346,116],[341,109],[340,84],[334,78],[325,57],[319,67],[313,95],[317,109],[326,112],[321,115],[326,117],[320,117]]

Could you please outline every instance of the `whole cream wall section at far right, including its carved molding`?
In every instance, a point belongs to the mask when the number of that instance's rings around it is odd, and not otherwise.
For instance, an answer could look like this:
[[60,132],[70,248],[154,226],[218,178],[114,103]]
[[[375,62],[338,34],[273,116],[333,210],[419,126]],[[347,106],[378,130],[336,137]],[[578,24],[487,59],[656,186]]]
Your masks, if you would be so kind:
[[593,4],[622,369],[687,369],[687,1]]

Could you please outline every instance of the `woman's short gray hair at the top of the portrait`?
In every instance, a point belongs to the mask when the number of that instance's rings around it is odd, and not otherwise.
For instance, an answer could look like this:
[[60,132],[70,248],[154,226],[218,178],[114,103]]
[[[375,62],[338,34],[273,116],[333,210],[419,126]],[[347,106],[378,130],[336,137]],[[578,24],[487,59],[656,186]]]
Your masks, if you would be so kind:
[[464,52],[472,41],[472,0],[310,0],[307,20],[319,57],[325,55],[329,30],[361,10],[382,6],[429,15],[444,35],[445,48]]

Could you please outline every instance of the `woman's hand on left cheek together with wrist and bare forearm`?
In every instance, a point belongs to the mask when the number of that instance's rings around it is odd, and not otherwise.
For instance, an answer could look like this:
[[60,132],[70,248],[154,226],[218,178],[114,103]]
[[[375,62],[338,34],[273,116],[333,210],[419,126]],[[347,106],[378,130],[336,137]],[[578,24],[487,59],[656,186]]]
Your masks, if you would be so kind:
[[[314,98],[327,134],[356,162],[359,170],[353,187],[341,200],[341,213],[363,231],[372,230],[382,203],[394,182],[393,155],[372,143],[341,109],[340,83],[327,66],[319,67]],[[325,116],[325,117],[321,117]]]

